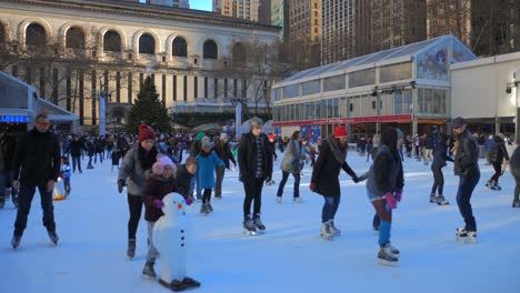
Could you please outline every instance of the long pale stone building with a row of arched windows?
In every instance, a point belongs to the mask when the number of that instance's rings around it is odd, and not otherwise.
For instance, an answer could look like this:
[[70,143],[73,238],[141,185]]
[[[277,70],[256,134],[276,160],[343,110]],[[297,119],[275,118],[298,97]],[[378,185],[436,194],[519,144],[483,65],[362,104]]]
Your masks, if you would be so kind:
[[18,0],[0,2],[0,69],[81,125],[99,123],[100,97],[109,100],[107,122],[124,122],[146,77],[189,124],[233,117],[237,95],[250,109],[269,107],[254,91],[268,81],[222,72],[244,43],[276,43],[276,27],[120,1]]

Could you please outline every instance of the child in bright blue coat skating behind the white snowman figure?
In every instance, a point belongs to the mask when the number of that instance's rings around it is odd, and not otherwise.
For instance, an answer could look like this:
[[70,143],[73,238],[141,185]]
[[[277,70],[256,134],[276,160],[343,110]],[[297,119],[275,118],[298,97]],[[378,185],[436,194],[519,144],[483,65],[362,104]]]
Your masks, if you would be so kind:
[[216,152],[211,151],[211,142],[209,140],[202,142],[202,151],[196,159],[199,162],[197,184],[200,184],[200,188],[203,189],[200,212],[209,214],[213,211],[210,201],[211,190],[214,188],[214,168],[226,168],[226,164]]

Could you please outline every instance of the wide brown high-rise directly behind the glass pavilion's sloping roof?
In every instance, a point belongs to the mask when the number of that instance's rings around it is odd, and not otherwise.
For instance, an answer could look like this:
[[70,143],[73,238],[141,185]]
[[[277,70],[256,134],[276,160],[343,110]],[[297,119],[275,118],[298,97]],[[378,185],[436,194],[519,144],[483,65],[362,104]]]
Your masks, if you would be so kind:
[[427,39],[426,0],[323,0],[321,62]]

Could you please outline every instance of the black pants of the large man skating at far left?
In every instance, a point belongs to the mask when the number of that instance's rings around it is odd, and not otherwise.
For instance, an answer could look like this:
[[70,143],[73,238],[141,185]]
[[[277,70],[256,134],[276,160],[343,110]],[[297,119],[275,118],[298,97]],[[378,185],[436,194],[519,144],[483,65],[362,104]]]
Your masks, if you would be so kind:
[[[18,194],[18,212],[14,222],[14,235],[21,236],[27,226],[27,219],[31,210],[32,198],[36,193],[36,185],[21,184]],[[54,206],[52,205],[52,191],[47,191],[47,184],[38,185],[40,192],[41,209],[43,210],[43,225],[48,231],[56,231]]]

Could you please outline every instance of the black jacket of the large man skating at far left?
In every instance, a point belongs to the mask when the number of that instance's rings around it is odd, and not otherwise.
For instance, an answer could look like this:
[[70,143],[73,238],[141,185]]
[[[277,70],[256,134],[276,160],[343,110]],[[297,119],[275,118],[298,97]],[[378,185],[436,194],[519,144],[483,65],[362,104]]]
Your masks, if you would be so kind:
[[18,141],[12,160],[14,180],[31,185],[46,184],[49,180],[58,181],[60,166],[60,142],[52,132],[40,133],[34,128]]

